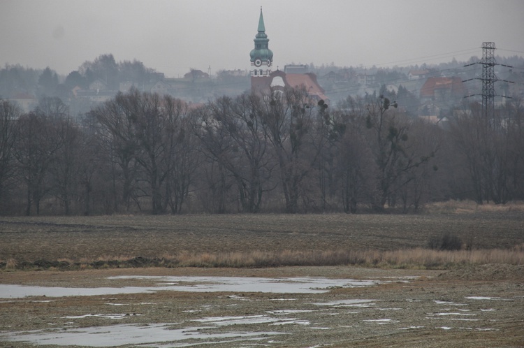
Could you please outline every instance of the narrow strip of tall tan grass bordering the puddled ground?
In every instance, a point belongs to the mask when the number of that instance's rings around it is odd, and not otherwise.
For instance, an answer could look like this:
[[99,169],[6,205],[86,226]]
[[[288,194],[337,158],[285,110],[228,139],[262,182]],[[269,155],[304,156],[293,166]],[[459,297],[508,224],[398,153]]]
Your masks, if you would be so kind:
[[142,256],[105,256],[98,259],[71,259],[0,262],[3,270],[85,270],[92,268],[137,267],[231,267],[261,268],[281,266],[364,266],[407,269],[452,269],[504,263],[524,265],[524,245],[512,249],[430,250],[404,249],[393,251],[284,251],[284,252],[224,252],[164,255],[158,258]]

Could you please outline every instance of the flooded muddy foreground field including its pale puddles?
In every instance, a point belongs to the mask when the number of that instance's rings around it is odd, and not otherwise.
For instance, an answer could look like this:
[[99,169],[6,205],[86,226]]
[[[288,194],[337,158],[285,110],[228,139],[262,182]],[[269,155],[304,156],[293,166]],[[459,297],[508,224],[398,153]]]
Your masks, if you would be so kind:
[[446,280],[437,271],[136,269],[35,272],[18,284],[9,278],[0,278],[0,343],[7,347],[524,342],[520,282]]

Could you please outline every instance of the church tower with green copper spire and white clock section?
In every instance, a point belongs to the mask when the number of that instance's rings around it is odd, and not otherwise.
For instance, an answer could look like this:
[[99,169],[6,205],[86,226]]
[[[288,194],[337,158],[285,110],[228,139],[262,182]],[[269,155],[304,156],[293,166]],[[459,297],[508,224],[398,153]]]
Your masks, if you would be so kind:
[[268,77],[273,63],[273,52],[268,48],[269,39],[265,34],[264,17],[260,8],[259,33],[254,40],[255,48],[249,53],[251,57],[251,78]]

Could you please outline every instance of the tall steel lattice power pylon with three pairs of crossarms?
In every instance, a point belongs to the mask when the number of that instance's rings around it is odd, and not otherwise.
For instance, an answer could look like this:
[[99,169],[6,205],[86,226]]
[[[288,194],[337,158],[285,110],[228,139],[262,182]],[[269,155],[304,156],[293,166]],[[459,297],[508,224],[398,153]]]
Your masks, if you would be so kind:
[[[495,60],[495,43],[493,42],[484,42],[482,43],[482,60],[476,63],[467,64],[466,66],[472,66],[474,64],[482,64],[482,77],[481,78],[470,78],[469,80],[464,80],[463,82],[470,80],[481,80],[482,81],[482,106],[483,106],[483,117],[486,119],[493,119],[495,113],[495,82],[504,81],[510,82],[507,80],[499,80],[497,75],[495,75],[495,65],[507,66],[512,68],[512,66],[505,64],[497,64]],[[468,98],[470,96],[478,96],[479,94],[470,94],[465,96]],[[507,97],[507,96],[504,96]],[[509,97],[507,97],[509,98]]]

